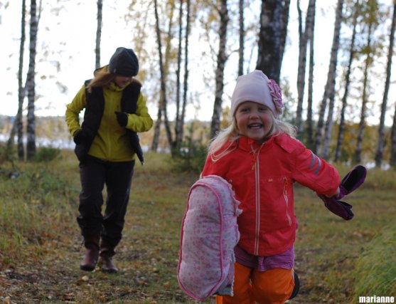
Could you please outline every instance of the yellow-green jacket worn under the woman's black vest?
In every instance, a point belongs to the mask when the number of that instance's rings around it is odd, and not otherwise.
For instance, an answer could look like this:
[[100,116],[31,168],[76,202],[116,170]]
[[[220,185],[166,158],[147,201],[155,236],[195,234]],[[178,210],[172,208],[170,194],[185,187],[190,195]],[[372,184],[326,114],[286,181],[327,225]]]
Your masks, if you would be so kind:
[[[121,111],[122,90],[115,83],[110,83],[103,88],[105,110],[102,115],[97,135],[90,146],[88,154],[109,162],[126,162],[134,159],[134,151],[129,142],[126,130],[146,132],[153,126],[153,120],[146,107],[146,98],[139,93],[136,114],[128,114],[126,127],[120,127],[114,112]],[[78,91],[71,103],[66,106],[66,123],[70,135],[74,136],[81,129],[80,112],[85,109],[85,85]]]

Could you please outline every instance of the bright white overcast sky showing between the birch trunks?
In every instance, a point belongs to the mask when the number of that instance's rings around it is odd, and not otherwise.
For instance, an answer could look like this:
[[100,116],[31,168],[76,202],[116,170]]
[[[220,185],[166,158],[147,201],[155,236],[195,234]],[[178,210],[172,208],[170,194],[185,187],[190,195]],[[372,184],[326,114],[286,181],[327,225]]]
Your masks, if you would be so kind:
[[[4,2],[4,1],[3,1]],[[28,1],[27,1],[28,2]],[[56,1],[55,4],[50,0],[43,0],[43,12],[41,15],[38,31],[38,50],[48,49],[50,53],[48,61],[43,62],[43,54],[38,54],[36,63],[36,115],[64,115],[65,105],[70,103],[77,90],[80,89],[83,81],[92,77],[92,70],[95,66],[95,34],[96,34],[96,1],[67,1],[67,5],[59,11],[56,16],[52,6],[62,4],[62,1]],[[130,36],[131,28],[126,28],[123,14],[127,9],[130,1],[118,0],[104,1],[103,27],[101,42],[102,65],[107,64],[110,56],[117,46],[128,46],[130,41],[126,41],[126,36]],[[291,1],[291,12],[289,20],[289,38],[287,52],[284,55],[282,63],[282,77],[289,78],[291,90],[296,92],[296,70],[297,70],[297,48],[298,48],[298,21],[296,13],[296,4]],[[387,0],[391,3],[391,0]],[[389,4],[390,5],[390,4]],[[317,1],[316,11],[316,36],[315,51],[316,62],[315,69],[315,93],[316,100],[321,100],[323,95],[324,84],[328,71],[328,60],[333,38],[333,11],[336,6],[336,0]],[[306,9],[305,1],[301,1],[301,7]],[[259,13],[259,11],[258,11]],[[3,68],[0,69],[1,90],[0,90],[0,114],[15,115],[18,100],[18,52],[19,40],[21,36],[20,28],[21,0],[9,1],[7,7],[0,7],[0,37],[3,46],[0,48],[0,59]],[[27,17],[28,20],[28,17]],[[91,22],[87,22],[91,21]],[[94,22],[92,22],[94,21]],[[26,28],[28,38],[28,27]],[[191,50],[200,49],[199,41],[194,37],[191,38]],[[45,46],[45,47],[41,47]],[[133,46],[130,46],[133,48]],[[28,55],[28,44],[26,44],[25,53]],[[61,62],[60,70],[57,70],[55,61]],[[230,57],[228,69],[236,70],[237,54]],[[395,60],[394,60],[395,62]],[[202,62],[197,63],[201,65]],[[28,65],[26,57],[25,66]],[[255,62],[252,62],[250,70],[254,68]],[[192,68],[192,66],[190,66]],[[226,68],[227,69],[227,68]],[[43,73],[43,71],[46,71]],[[213,70],[214,77],[215,70]],[[384,70],[385,73],[385,70]],[[229,73],[227,73],[228,75]],[[395,74],[395,73],[394,73]],[[200,73],[191,73],[191,83],[202,83]],[[194,79],[196,76],[196,79]],[[385,76],[384,76],[385,78]],[[395,77],[392,77],[395,79]],[[229,96],[235,86],[235,78],[228,78],[225,86],[225,98],[223,106],[230,102]],[[58,83],[58,84],[57,84]],[[62,93],[62,85],[67,85],[65,93]],[[393,85],[394,86],[394,85]],[[208,88],[206,88],[208,90]],[[214,88],[208,94],[208,98],[199,100],[200,110],[198,115],[196,108],[191,106],[188,109],[188,116],[198,117],[201,120],[210,120],[213,112]],[[379,95],[383,92],[383,85],[378,87]],[[392,90],[390,98],[392,98]],[[150,112],[156,117],[155,103],[150,103]],[[390,99],[390,104],[394,100]],[[393,108],[390,112],[394,112]],[[378,115],[379,116],[379,115]],[[391,123],[391,117],[388,115],[387,124]]]

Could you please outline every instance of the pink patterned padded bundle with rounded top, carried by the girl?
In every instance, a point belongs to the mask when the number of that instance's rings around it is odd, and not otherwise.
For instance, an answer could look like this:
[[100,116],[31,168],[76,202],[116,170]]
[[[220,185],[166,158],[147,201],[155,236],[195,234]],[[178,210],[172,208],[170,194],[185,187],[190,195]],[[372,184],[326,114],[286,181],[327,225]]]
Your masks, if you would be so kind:
[[215,175],[199,179],[188,193],[177,272],[181,289],[195,300],[232,295],[239,204],[231,185]]

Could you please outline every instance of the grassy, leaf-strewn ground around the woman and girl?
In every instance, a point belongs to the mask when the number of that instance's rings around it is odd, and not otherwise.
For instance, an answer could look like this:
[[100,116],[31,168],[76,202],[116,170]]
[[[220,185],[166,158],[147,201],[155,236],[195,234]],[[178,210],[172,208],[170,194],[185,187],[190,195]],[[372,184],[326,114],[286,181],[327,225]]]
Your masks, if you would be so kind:
[[[83,248],[73,152],[50,162],[17,163],[12,179],[15,168],[0,168],[0,302],[195,303],[178,287],[176,267],[181,220],[197,173],[176,172],[166,154],[147,153],[146,164],[136,164],[124,237],[114,256],[121,271],[108,275],[78,267]],[[338,169],[342,176],[350,168]],[[290,303],[392,295],[395,195],[395,171],[370,170],[363,187],[346,199],[355,218],[343,221],[296,185],[301,293]]]

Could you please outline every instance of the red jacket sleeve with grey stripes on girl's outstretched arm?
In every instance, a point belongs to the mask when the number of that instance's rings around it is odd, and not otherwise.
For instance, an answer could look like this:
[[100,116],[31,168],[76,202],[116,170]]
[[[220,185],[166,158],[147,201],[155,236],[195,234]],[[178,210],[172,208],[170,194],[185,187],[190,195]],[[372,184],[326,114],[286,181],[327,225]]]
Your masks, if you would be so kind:
[[336,168],[302,144],[294,150],[293,154],[293,178],[296,182],[319,194],[336,193],[341,182]]

